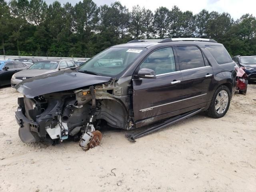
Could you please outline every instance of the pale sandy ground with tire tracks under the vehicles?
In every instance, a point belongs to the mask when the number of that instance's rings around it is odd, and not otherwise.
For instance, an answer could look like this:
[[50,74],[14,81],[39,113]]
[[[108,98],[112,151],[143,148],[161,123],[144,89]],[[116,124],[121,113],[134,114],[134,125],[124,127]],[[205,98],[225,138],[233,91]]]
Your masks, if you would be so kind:
[[87,152],[72,141],[23,144],[18,96],[0,88],[1,192],[256,192],[256,84],[223,118],[198,114],[136,143],[106,131]]

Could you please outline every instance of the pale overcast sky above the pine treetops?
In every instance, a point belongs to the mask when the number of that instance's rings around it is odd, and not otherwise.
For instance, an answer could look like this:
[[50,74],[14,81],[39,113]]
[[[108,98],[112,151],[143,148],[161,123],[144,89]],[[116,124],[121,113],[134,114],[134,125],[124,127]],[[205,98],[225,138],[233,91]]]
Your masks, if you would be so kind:
[[[46,0],[48,4],[54,0]],[[80,0],[59,0],[62,4],[71,2],[73,5]],[[82,1],[82,0],[81,0]],[[103,4],[110,5],[115,0],[93,0],[98,6]],[[152,11],[156,10],[159,6],[165,6],[169,9],[172,6],[178,6],[182,11],[192,11],[193,14],[206,9],[209,12],[228,12],[236,20],[243,14],[250,13],[256,16],[256,0],[119,0],[122,5],[132,9],[134,5],[145,6]]]

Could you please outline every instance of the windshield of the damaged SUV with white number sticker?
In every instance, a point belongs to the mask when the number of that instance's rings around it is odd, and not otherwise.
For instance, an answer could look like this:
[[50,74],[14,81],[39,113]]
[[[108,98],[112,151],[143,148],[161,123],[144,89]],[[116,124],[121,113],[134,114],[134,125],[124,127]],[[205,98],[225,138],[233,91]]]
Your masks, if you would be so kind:
[[116,76],[145,50],[146,48],[111,47],[82,64],[78,71],[84,72],[86,70],[103,76]]

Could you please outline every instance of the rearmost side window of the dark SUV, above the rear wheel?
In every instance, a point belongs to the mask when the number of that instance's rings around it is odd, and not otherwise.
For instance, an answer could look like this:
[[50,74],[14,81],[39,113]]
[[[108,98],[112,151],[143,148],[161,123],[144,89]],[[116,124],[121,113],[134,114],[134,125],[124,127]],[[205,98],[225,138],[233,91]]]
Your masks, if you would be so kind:
[[232,59],[224,46],[206,45],[208,51],[212,54],[218,64],[230,63]]

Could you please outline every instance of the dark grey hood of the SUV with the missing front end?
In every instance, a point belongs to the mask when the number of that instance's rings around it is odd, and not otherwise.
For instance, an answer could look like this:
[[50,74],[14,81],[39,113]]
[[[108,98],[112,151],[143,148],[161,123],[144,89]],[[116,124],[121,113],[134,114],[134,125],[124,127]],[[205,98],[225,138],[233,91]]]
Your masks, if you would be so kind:
[[111,77],[85,74],[73,70],[63,70],[26,79],[16,85],[15,88],[27,98],[34,98],[43,94],[73,90],[84,86],[108,82],[110,79]]

